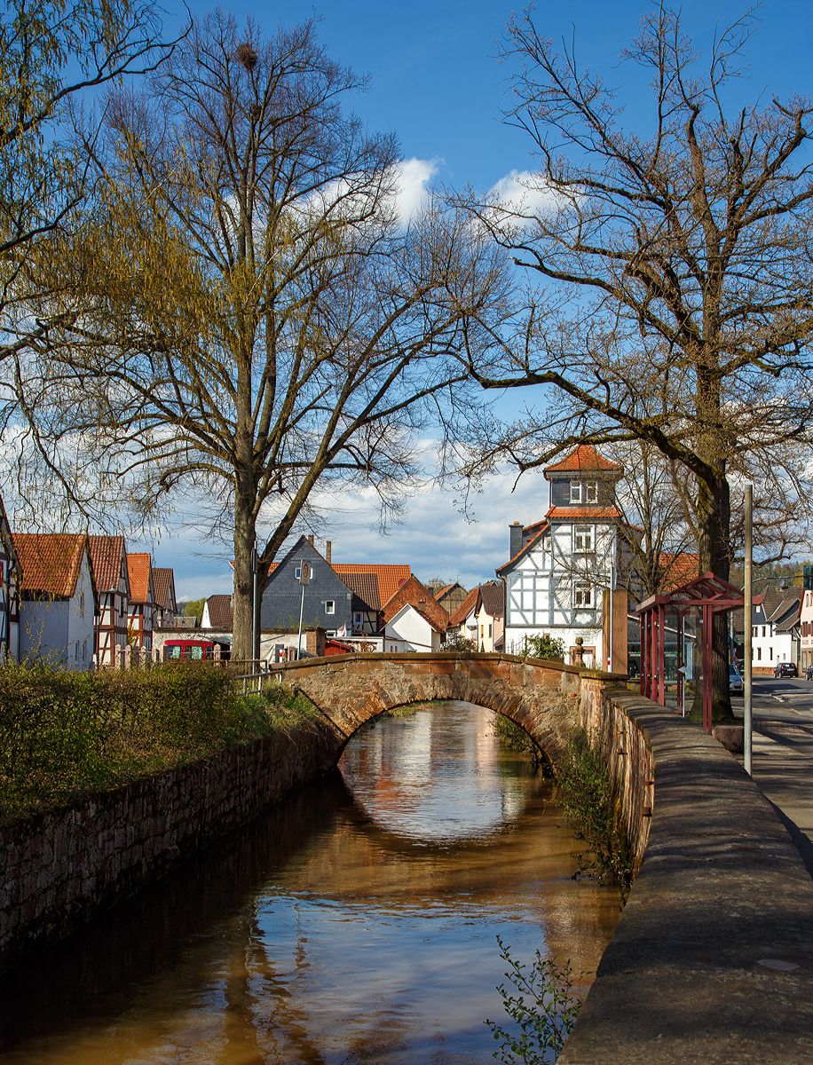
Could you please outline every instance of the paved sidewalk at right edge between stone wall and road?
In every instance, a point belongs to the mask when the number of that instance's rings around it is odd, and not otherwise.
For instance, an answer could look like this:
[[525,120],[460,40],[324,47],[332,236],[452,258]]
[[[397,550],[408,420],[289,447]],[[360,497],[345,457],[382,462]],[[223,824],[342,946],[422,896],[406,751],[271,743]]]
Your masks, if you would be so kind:
[[[753,733],[751,775],[776,807],[813,876],[813,735],[793,725],[780,727],[779,722],[767,727],[771,736]],[[781,742],[773,738],[780,735]]]

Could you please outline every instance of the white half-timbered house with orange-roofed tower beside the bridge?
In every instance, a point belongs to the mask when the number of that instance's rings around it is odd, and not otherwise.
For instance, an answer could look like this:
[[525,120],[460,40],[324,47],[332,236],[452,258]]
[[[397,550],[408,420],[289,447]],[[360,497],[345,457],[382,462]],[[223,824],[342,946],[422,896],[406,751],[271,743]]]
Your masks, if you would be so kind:
[[520,654],[526,637],[563,641],[573,661],[581,637],[584,662],[602,668],[602,591],[618,566],[620,511],[615,485],[623,468],[586,445],[546,466],[551,506],[542,521],[510,529],[505,580],[505,651]]

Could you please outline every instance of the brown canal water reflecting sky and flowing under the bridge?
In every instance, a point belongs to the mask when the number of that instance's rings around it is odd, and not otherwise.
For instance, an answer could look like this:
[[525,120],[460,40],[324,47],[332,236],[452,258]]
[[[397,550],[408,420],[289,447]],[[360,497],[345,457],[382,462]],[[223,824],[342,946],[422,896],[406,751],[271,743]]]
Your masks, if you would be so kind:
[[618,919],[493,715],[378,719],[339,770],[0,982],[0,1062],[472,1065],[497,936],[589,983]]

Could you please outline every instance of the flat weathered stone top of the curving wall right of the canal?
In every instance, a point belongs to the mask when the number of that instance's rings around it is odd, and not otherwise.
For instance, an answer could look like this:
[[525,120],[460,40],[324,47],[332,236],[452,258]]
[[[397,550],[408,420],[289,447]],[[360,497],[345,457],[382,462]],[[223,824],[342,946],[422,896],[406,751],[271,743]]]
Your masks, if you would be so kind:
[[613,693],[654,759],[640,871],[559,1065],[813,1061],[813,881],[703,730]]

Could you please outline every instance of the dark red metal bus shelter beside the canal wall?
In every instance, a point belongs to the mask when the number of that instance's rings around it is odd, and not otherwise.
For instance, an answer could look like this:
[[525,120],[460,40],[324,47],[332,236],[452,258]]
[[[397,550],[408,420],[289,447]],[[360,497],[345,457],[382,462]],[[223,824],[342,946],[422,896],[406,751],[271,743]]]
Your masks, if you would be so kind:
[[645,600],[637,608],[641,695],[666,706],[673,687],[676,711],[684,714],[687,686],[702,687],[703,727],[711,733],[712,619],[744,602],[739,589],[713,573]]

